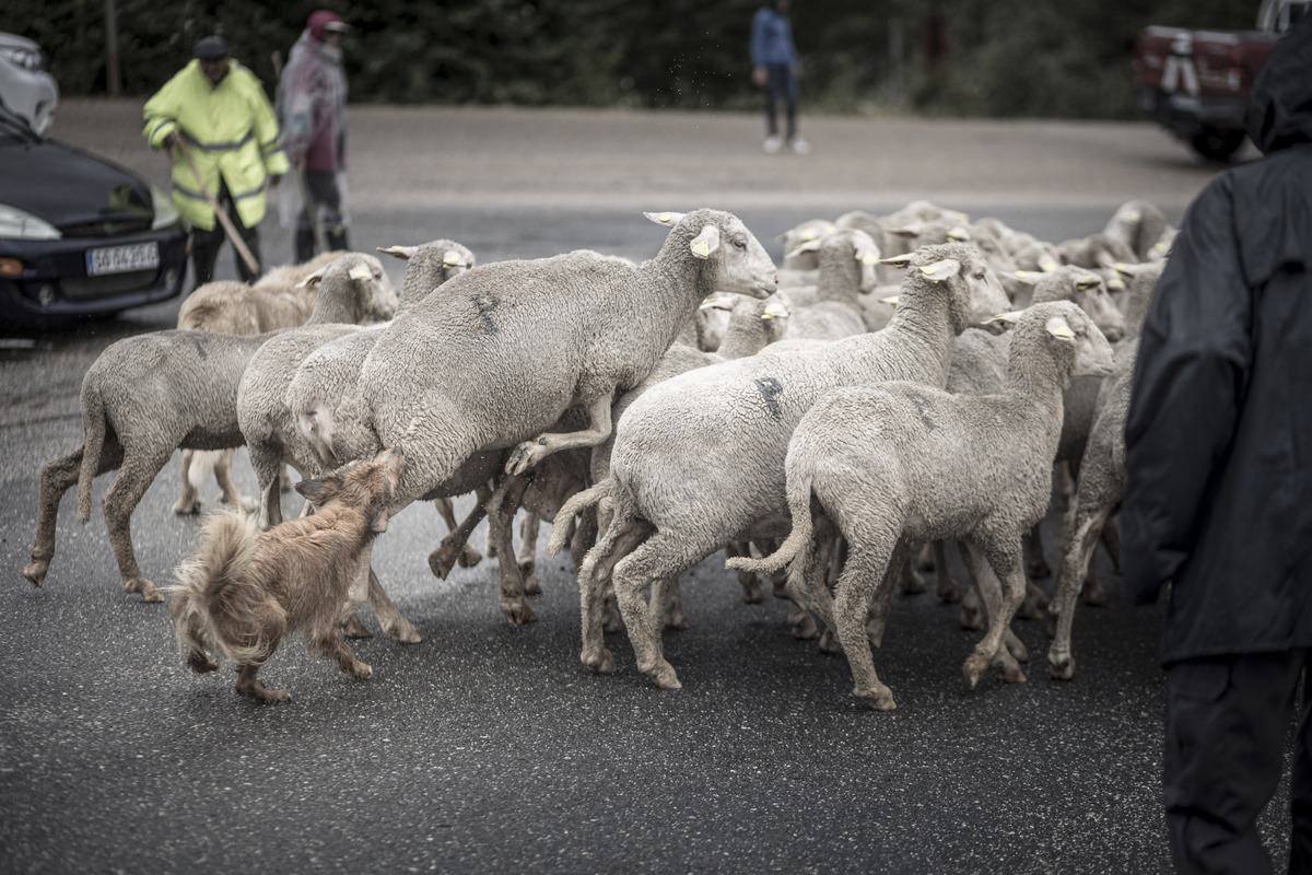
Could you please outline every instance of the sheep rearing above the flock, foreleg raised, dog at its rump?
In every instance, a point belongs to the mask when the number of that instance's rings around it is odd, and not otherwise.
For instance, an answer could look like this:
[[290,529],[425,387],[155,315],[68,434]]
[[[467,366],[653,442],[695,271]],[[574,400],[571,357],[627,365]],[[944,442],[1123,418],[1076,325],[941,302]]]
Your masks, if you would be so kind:
[[[504,449],[504,470],[518,475],[596,446],[610,434],[615,391],[651,371],[706,296],[775,290],[774,262],[736,216],[647,216],[670,231],[638,268],[593,252],[483,265],[384,329],[361,367],[359,397],[365,430],[411,460],[394,512],[437,489],[458,495],[446,491],[453,478]],[[586,429],[539,434],[571,407],[588,413]],[[336,429],[298,416],[303,429]],[[357,581],[353,603],[362,589]]]

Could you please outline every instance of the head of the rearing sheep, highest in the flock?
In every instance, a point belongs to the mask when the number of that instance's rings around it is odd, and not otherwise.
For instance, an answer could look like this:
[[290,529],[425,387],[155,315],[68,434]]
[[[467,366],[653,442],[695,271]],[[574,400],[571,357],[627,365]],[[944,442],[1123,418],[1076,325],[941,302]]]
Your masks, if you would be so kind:
[[736,215],[719,210],[644,215],[672,228],[666,249],[673,244],[677,257],[706,262],[703,290],[768,298],[778,289],[774,261]]

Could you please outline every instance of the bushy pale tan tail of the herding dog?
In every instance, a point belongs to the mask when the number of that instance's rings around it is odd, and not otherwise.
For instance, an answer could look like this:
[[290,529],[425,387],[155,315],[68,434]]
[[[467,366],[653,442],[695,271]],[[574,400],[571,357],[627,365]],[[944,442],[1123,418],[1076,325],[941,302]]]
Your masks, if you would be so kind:
[[[268,641],[258,622],[282,607],[248,580],[258,527],[240,510],[211,514],[201,535],[201,551],[177,568],[169,613],[178,647],[220,653],[234,662],[260,661]],[[184,661],[193,665],[184,655]],[[194,665],[193,665],[194,668]]]

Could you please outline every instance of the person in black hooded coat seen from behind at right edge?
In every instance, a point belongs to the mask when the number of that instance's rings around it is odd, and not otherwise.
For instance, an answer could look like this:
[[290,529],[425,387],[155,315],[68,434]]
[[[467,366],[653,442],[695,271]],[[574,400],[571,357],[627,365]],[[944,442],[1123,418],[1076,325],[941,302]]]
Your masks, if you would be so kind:
[[[1144,325],[1126,424],[1124,582],[1138,603],[1170,584],[1164,790],[1182,872],[1271,871],[1254,824],[1281,779],[1309,666],[1312,18],[1263,67],[1246,122],[1265,157],[1190,206]],[[1291,872],[1312,872],[1309,693]]]

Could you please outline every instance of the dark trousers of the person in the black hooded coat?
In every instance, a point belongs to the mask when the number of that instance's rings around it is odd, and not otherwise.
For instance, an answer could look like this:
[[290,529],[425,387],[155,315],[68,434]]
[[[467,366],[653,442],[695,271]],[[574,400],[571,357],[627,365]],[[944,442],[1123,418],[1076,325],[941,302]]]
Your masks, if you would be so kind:
[[1257,816],[1284,770],[1303,674],[1290,790],[1290,872],[1312,872],[1308,651],[1185,660],[1166,669],[1164,787],[1179,872],[1270,872]]

